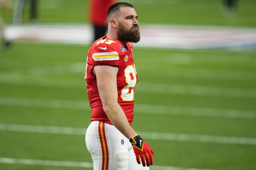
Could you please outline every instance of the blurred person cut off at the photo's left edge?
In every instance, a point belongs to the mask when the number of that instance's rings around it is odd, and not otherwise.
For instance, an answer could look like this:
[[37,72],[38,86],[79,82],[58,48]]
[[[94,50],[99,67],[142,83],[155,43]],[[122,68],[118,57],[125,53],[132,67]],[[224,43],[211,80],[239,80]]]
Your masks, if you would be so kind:
[[[0,9],[10,9],[10,2],[9,0],[0,0]],[[5,22],[3,20],[1,10],[0,10],[0,40],[3,41],[3,48],[7,49],[11,45],[11,41],[6,39],[5,36]]]

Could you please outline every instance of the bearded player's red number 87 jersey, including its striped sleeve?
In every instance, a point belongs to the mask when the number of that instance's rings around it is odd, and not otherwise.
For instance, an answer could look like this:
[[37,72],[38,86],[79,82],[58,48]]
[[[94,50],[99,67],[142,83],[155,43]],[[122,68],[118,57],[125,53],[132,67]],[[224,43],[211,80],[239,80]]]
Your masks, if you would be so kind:
[[[102,121],[112,124],[103,111],[102,102],[97,88],[97,79],[93,73],[94,66],[117,66],[118,104],[132,124],[134,106],[134,86],[138,82],[137,72],[132,55],[132,43],[124,45],[119,40],[109,40],[104,36],[96,40],[89,49],[86,64],[86,88],[91,111],[91,121]],[[107,84],[106,84],[107,86]]]

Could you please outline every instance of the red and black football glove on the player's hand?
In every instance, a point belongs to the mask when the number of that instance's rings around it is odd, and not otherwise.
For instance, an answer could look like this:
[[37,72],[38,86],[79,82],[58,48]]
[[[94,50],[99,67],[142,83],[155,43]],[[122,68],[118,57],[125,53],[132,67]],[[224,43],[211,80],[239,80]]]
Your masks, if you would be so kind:
[[[140,135],[135,135],[129,140],[132,143],[133,151],[136,156],[136,160],[138,164],[141,164],[143,167],[149,167],[149,165],[153,165],[153,156],[155,154],[154,151],[148,146],[146,142],[140,137]],[[141,161],[140,161],[141,160]],[[146,160],[146,164],[145,164]]]

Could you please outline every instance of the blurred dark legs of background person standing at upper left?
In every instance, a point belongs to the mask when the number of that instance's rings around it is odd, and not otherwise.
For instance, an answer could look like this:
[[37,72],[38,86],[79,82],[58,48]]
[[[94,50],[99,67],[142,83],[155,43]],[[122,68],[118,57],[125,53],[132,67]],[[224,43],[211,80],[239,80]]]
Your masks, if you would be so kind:
[[[12,22],[14,24],[22,23],[23,20],[23,10],[25,6],[25,1],[27,0],[15,0],[14,2],[14,8],[13,8],[13,17]],[[30,6],[29,6],[29,23],[36,23],[37,22],[37,9],[38,9],[38,0],[29,0]]]

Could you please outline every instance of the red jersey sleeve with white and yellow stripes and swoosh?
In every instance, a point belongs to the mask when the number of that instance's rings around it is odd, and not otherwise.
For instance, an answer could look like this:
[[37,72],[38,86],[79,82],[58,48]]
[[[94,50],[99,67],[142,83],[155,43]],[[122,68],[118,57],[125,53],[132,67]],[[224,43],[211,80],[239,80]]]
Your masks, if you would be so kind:
[[119,67],[119,54],[111,46],[96,46],[93,54],[93,66],[109,65]]

